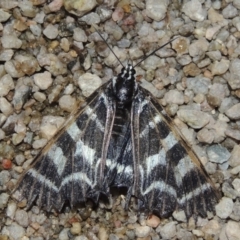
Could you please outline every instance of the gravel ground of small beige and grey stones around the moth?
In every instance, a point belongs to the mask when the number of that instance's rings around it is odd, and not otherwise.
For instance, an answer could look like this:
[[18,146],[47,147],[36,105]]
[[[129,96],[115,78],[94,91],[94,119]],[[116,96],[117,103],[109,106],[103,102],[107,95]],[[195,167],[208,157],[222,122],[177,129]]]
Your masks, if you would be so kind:
[[[240,239],[240,1],[0,0],[0,240]],[[73,108],[139,62],[138,80],[172,116],[222,198],[207,219],[111,206],[62,213],[11,196]]]

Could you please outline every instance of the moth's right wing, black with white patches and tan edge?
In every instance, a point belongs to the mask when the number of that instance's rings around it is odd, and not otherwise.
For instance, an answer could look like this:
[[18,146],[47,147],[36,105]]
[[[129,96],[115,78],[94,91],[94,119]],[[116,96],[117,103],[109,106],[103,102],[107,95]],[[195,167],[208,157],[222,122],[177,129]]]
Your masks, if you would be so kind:
[[206,217],[217,192],[203,166],[175,130],[171,119],[139,86],[132,105],[133,195],[139,207],[160,216],[174,210]]

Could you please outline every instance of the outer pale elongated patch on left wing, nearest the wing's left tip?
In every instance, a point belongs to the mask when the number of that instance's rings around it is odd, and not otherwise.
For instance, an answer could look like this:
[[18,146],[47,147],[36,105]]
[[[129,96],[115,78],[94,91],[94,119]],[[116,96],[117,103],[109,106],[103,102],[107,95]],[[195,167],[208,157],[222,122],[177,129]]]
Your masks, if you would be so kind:
[[53,144],[50,150],[48,151],[47,156],[55,164],[58,175],[61,175],[67,162],[67,158],[64,156],[62,149],[57,145]]

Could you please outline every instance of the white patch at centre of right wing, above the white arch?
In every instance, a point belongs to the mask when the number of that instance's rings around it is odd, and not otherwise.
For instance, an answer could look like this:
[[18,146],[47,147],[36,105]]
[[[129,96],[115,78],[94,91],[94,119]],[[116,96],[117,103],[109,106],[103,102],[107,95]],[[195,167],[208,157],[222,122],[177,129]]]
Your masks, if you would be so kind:
[[147,175],[151,174],[152,169],[158,165],[166,166],[166,152],[161,149],[159,153],[149,156],[146,159]]

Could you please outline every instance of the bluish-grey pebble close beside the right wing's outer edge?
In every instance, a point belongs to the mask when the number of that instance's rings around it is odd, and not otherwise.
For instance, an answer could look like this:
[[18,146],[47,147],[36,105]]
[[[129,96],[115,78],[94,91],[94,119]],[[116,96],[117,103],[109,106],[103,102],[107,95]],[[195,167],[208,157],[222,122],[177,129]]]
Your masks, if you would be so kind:
[[230,152],[219,144],[207,147],[207,155],[211,162],[220,164],[228,161],[231,156]]

